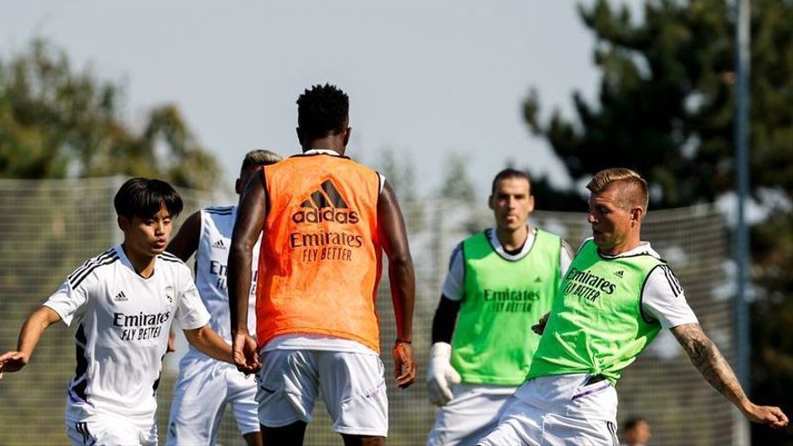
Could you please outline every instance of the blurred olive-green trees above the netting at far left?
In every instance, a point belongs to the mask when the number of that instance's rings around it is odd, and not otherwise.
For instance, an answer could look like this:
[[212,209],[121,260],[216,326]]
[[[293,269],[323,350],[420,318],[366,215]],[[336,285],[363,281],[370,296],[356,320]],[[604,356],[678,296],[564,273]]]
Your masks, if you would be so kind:
[[123,87],[77,71],[50,42],[0,60],[0,177],[160,177],[209,190],[221,175],[176,105],[123,119]]

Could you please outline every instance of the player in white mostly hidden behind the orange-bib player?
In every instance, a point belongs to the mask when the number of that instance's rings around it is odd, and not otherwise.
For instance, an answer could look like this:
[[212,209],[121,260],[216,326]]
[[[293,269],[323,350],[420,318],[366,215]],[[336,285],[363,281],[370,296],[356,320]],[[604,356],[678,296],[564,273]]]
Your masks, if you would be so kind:
[[[269,150],[251,150],[242,160],[235,191],[241,194],[248,180],[261,166],[280,160]],[[210,324],[231,345],[229,295],[226,289],[226,263],[231,246],[237,206],[207,207],[190,215],[170,242],[168,250],[187,261],[196,253],[196,287],[206,309],[212,314]],[[259,243],[254,248],[253,285],[248,326],[256,327],[256,274]],[[214,360],[191,347],[179,362],[179,376],[174,387],[168,423],[169,445],[215,444],[225,405],[232,406],[242,437],[249,446],[260,446],[261,434],[256,403],[256,381],[233,365]]]

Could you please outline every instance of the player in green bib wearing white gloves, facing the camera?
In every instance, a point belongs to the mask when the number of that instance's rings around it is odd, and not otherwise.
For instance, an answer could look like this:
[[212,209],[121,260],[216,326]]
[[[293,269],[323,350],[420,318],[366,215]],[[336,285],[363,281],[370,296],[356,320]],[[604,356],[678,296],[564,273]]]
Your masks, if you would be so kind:
[[570,264],[566,242],[527,224],[534,199],[524,172],[499,172],[488,205],[496,227],[454,250],[433,319],[427,384],[442,407],[431,446],[473,446],[496,427],[537,349],[530,327],[551,309]]

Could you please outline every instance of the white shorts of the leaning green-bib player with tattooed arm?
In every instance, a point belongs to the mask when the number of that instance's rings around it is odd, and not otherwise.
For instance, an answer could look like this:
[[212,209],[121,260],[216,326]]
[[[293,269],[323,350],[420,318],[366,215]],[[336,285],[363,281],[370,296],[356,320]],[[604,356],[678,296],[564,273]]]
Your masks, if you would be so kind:
[[589,375],[535,378],[515,392],[479,446],[619,446],[616,390]]

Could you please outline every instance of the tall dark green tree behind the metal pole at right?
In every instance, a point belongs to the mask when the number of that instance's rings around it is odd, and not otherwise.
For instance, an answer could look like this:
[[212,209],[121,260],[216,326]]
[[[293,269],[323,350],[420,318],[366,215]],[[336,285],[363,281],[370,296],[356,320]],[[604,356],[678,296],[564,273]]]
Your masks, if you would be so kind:
[[[712,202],[734,189],[734,2],[648,0],[639,19],[607,0],[579,5],[595,33],[597,98],[575,93],[575,118],[524,100],[533,133],[574,182],[602,168],[636,168],[652,207]],[[793,2],[752,1],[752,195],[769,217],[752,229],[752,397],[793,411]],[[543,203],[580,210],[570,190],[538,184]],[[550,194],[559,193],[558,199]],[[575,192],[574,192],[575,193]],[[544,196],[549,194],[548,196]],[[755,444],[793,444],[753,426]]]

